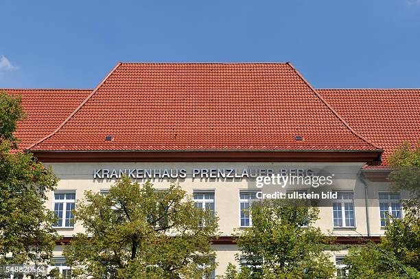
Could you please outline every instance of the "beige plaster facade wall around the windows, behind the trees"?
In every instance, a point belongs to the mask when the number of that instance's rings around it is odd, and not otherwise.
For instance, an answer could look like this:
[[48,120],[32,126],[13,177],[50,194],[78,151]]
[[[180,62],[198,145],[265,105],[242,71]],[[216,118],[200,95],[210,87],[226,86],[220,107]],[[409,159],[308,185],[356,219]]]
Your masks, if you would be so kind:
[[[180,169],[187,171],[185,179],[152,179],[156,188],[165,189],[170,181],[179,181],[182,188],[188,193],[194,191],[208,190],[214,192],[215,212],[219,216],[219,227],[221,236],[231,236],[233,231],[240,227],[240,192],[243,190],[261,190],[255,187],[255,184],[248,183],[248,179],[200,179],[191,177],[193,169],[200,168],[230,168],[242,170],[244,168],[259,167],[272,168],[278,170],[281,168],[290,168],[290,166],[299,166],[303,169],[336,167],[340,173],[334,173],[334,185],[332,188],[337,192],[353,193],[355,225],[349,227],[334,227],[332,205],[320,207],[320,219],[316,222],[325,234],[333,236],[368,236],[368,223],[370,236],[380,236],[384,233],[380,223],[379,193],[390,192],[388,183],[374,183],[367,181],[367,210],[369,221],[366,219],[366,199],[365,186],[358,175],[363,163],[53,163],[51,164],[54,172],[60,178],[56,192],[74,191],[75,199],[80,201],[83,198],[84,191],[92,190],[100,192],[106,190],[115,183],[116,179],[95,179],[94,172],[97,169]],[[338,167],[338,168],[337,168]],[[138,179],[137,181],[145,181]],[[54,210],[54,195],[49,193],[47,205]],[[83,227],[80,223],[75,223],[74,227],[57,228],[62,236],[72,236],[75,233],[82,232]],[[236,245],[213,245],[217,251],[218,269],[217,274],[223,274],[229,263],[235,263],[235,254],[239,251]],[[60,255],[60,247],[55,252]],[[345,252],[335,252],[335,254],[345,254]],[[331,260],[334,256],[331,254]]]

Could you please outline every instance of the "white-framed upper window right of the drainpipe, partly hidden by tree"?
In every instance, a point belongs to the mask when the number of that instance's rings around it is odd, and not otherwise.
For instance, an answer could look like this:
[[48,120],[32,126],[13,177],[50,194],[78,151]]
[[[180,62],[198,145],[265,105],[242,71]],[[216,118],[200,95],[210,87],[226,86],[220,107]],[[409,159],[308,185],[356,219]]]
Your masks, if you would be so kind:
[[401,195],[399,193],[379,193],[381,227],[390,222],[390,216],[401,218]]

